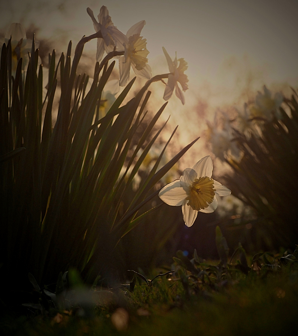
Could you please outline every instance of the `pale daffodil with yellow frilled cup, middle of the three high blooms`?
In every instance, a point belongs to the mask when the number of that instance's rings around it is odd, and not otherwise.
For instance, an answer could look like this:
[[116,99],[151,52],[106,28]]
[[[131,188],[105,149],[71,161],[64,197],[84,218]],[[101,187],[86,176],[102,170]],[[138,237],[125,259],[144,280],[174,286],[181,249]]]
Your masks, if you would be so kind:
[[133,25],[126,33],[123,40],[124,56],[119,58],[119,76],[120,86],[125,86],[129,81],[130,68],[132,67],[135,74],[144,79],[150,79],[152,72],[147,64],[147,55],[149,51],[146,48],[146,39],[140,36],[146,21],[140,21]]

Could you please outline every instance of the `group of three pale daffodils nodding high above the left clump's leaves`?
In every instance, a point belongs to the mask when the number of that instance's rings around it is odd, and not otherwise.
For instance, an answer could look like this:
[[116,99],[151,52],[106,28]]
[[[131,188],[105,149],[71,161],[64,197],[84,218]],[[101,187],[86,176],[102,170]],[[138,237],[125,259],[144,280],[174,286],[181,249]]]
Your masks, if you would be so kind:
[[[147,56],[149,51],[146,48],[146,39],[141,36],[141,31],[146,24],[145,20],[136,23],[126,34],[123,34],[114,26],[106,6],[101,7],[98,14],[98,22],[89,7],[87,8],[87,12],[92,19],[95,31],[100,31],[102,34],[102,38],[97,39],[96,60],[100,62],[104,52],[107,54],[112,51],[119,52],[115,56],[119,60],[119,85],[125,86],[128,83],[131,67],[137,76],[150,80],[152,72],[148,65]],[[164,47],[162,50],[169,67],[169,73],[162,76],[162,78],[168,78],[163,98],[168,100],[175,89],[176,96],[184,104],[185,99],[182,90],[186,91],[188,89],[188,78],[184,74],[184,71],[187,70],[187,62],[184,58],[177,60],[177,56],[172,61]],[[178,86],[178,83],[180,83],[182,90]]]

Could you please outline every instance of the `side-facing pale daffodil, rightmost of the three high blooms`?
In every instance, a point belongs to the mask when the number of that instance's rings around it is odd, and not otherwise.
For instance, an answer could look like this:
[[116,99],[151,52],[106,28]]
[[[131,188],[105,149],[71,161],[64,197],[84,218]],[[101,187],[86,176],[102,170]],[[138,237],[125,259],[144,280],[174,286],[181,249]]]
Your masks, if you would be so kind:
[[176,88],[176,96],[181,100],[182,104],[184,104],[185,103],[184,94],[181,91],[180,87],[178,86],[178,83],[181,84],[183,91],[186,91],[188,89],[188,85],[186,84],[188,82],[188,78],[187,75],[184,74],[184,71],[188,68],[187,62],[184,60],[184,58],[179,58],[177,60],[177,54],[174,61],[172,61],[172,59],[170,58],[169,54],[167,53],[164,47],[162,47],[162,50],[167,60],[167,64],[170,71],[168,82],[164,90],[163,99],[168,100],[172,96],[172,93]]

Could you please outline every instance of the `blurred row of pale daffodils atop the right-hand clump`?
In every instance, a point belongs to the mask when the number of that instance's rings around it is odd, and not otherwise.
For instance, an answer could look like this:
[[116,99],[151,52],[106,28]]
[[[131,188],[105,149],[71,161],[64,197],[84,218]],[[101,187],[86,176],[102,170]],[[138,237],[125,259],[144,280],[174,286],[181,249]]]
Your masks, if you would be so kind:
[[264,122],[281,119],[279,108],[283,102],[282,94],[277,92],[272,96],[265,85],[263,91],[258,91],[253,103],[245,103],[242,110],[236,109],[236,116],[231,118],[225,112],[216,112],[213,123],[207,121],[207,141],[213,154],[221,161],[231,157],[236,161],[241,160],[243,153],[236,142],[239,134],[246,139],[252,134],[260,137]]

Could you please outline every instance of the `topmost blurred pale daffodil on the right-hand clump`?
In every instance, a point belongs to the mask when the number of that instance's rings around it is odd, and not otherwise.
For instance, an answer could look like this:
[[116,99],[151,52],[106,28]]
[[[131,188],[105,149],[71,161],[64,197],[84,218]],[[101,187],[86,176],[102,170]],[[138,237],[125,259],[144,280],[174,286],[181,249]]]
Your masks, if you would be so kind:
[[263,117],[267,120],[272,120],[275,116],[277,119],[281,118],[280,106],[283,102],[283,96],[277,92],[272,98],[271,91],[263,86],[264,93],[258,91],[256,95],[255,104],[250,107],[251,114],[254,117]]

